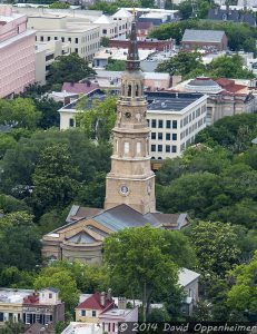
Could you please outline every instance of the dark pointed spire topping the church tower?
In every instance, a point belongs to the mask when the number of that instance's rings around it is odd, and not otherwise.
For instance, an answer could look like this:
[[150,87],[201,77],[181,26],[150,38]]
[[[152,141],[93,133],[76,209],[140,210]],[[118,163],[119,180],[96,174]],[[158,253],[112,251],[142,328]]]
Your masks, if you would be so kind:
[[138,55],[138,41],[137,41],[137,22],[136,12],[134,11],[134,20],[131,23],[131,33],[128,46],[128,57],[126,60],[126,69],[128,71],[135,71],[140,68],[139,55]]

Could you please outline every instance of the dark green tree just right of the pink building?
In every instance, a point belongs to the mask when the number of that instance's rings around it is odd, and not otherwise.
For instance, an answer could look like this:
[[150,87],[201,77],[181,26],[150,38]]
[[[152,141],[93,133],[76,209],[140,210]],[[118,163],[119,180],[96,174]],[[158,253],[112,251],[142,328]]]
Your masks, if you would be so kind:
[[88,78],[95,71],[88,66],[88,62],[78,56],[71,53],[69,56],[60,56],[49,68],[48,85],[63,84],[66,81],[77,82]]

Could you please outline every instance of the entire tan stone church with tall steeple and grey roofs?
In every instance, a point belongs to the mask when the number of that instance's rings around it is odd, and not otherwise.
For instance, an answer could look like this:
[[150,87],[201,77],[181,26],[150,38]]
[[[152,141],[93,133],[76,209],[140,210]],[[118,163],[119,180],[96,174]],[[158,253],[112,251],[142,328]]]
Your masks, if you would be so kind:
[[136,21],[121,76],[117,105],[111,170],[106,179],[105,208],[73,206],[68,224],[42,237],[42,256],[50,259],[100,263],[105,237],[126,227],[150,224],[152,227],[180,229],[187,214],[156,212],[155,174],[150,166],[150,129],[146,118],[144,73],[138,56]]

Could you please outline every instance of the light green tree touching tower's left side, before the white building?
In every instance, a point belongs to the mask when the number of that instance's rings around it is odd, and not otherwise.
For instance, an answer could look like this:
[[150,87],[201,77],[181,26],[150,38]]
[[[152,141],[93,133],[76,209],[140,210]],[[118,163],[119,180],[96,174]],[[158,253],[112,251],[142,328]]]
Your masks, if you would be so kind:
[[81,99],[77,107],[80,111],[77,115],[78,126],[86,131],[88,138],[109,141],[116,121],[117,99],[107,96],[103,101],[93,101],[92,107],[88,110],[85,109],[85,105],[87,106],[87,100]]

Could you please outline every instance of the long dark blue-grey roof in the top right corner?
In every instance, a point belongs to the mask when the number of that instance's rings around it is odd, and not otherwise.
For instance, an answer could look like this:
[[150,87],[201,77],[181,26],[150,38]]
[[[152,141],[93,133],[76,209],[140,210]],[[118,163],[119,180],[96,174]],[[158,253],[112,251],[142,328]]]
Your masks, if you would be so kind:
[[211,8],[208,11],[208,19],[216,21],[233,21],[238,23],[248,23],[249,26],[256,26],[255,13],[244,12],[237,9],[220,9]]

